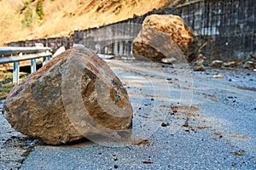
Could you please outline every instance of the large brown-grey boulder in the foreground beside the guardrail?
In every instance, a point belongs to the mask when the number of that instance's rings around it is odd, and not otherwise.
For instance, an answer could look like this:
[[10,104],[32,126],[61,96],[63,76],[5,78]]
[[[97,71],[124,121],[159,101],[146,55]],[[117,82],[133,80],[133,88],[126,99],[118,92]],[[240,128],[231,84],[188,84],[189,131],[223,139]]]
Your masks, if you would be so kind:
[[17,131],[47,144],[123,132],[132,121],[131,104],[119,78],[85,48],[58,55],[12,89],[3,114]]

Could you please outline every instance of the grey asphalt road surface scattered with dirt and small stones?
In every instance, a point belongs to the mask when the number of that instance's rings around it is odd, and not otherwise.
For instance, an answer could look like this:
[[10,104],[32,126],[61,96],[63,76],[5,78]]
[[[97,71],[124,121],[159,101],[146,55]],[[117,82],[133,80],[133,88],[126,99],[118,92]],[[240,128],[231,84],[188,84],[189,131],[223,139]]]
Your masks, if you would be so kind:
[[256,72],[107,62],[130,96],[136,142],[46,145],[0,115],[0,169],[256,169]]

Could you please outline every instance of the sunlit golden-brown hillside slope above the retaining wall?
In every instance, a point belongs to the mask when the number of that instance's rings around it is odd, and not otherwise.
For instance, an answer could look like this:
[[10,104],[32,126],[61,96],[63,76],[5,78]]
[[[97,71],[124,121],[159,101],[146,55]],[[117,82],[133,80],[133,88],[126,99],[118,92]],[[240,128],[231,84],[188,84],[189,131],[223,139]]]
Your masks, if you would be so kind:
[[[41,13],[37,11],[41,2]],[[178,0],[1,0],[0,45],[6,42],[62,37],[146,14]]]

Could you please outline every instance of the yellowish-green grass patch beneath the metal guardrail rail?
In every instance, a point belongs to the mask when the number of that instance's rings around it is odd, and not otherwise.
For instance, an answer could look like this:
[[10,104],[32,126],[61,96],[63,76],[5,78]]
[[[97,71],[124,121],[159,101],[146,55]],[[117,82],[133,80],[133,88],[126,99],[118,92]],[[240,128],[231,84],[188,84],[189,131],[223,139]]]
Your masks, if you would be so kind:
[[[22,82],[29,73],[20,72],[20,82]],[[15,87],[13,82],[13,73],[12,72],[1,72],[0,74],[0,99],[6,97],[9,94],[9,91]]]

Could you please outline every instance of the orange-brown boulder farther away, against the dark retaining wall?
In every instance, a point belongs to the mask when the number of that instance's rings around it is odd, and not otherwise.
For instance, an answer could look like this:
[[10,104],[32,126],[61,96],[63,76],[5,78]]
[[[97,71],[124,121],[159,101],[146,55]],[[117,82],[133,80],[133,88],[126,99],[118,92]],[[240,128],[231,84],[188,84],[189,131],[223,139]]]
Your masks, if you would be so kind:
[[172,14],[149,15],[143,21],[142,31],[133,41],[133,54],[143,55],[153,61],[166,57],[180,61],[180,53],[192,61],[198,48],[189,26],[182,18]]

